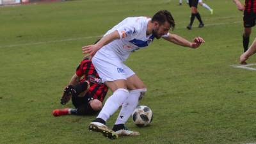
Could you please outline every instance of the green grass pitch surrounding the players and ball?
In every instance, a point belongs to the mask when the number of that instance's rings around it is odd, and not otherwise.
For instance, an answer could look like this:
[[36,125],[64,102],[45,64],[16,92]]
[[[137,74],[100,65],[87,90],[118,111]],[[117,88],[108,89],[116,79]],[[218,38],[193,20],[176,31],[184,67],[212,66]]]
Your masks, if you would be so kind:
[[[1,144],[243,144],[256,143],[255,71],[234,68],[243,52],[243,13],[232,0],[207,0],[205,23],[186,29],[190,10],[178,0],[84,0],[0,7]],[[82,60],[81,47],[125,17],[169,10],[171,33],[205,44],[188,49],[154,40],[125,63],[147,85],[140,105],[154,112],[150,127],[127,127],[140,136],[108,140],[88,131],[95,116],[54,117],[64,86]],[[255,38],[253,28],[251,42]],[[255,63],[252,56],[248,63]],[[109,92],[108,95],[111,93]],[[112,127],[116,116],[111,116]]]

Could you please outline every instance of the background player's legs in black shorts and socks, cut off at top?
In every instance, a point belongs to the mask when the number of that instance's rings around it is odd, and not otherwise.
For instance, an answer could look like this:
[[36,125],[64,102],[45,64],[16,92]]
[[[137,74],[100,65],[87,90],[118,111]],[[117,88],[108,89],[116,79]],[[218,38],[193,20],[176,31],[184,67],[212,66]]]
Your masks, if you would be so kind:
[[200,24],[198,25],[198,28],[203,28],[204,27],[204,22],[201,19],[201,16],[197,10],[197,5],[198,5],[198,0],[189,0],[189,7],[191,8],[191,17],[190,17],[190,23],[187,26],[187,29],[192,29],[192,25],[193,22],[196,19],[198,19],[198,21],[200,22]]

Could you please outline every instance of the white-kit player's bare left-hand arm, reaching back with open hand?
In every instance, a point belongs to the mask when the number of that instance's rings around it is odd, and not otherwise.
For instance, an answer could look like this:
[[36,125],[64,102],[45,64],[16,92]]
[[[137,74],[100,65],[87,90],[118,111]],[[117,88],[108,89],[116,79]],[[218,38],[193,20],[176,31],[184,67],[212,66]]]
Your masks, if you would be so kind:
[[94,56],[94,54],[99,51],[101,47],[104,45],[109,44],[110,42],[113,42],[116,39],[120,39],[120,36],[118,34],[118,31],[113,31],[112,33],[109,33],[106,36],[103,36],[97,44],[94,45],[87,45],[82,47],[83,54],[90,54],[91,56]]

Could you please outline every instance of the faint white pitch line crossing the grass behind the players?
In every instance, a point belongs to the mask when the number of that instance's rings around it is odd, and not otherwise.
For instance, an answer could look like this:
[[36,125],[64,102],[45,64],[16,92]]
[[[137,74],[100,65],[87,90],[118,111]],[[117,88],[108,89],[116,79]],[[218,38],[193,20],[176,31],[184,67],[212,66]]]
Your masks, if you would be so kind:
[[[232,22],[232,24],[239,24],[239,23],[241,23],[241,21]],[[221,26],[221,25],[226,25],[226,24],[230,24],[230,23],[205,24],[205,26]],[[177,28],[177,29],[185,29],[185,28]],[[100,36],[102,36],[102,35],[100,35]],[[50,40],[50,41],[45,41],[45,42],[31,42],[31,43],[27,43],[27,44],[0,45],[0,49],[3,47],[22,47],[22,46],[26,46],[26,45],[51,44],[51,43],[56,43],[56,42],[68,42],[68,41],[73,41],[73,40],[99,38],[100,36],[86,36],[86,37],[80,37],[80,38],[68,38],[68,39],[63,39],[63,40]]]

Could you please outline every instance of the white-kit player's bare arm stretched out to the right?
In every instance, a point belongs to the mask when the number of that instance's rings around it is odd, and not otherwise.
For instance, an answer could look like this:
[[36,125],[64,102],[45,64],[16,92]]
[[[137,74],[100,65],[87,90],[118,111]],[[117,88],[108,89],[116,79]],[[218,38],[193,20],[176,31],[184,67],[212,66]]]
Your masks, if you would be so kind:
[[191,48],[194,48],[194,49],[196,49],[202,43],[205,42],[204,39],[201,38],[200,36],[194,38],[193,42],[189,42],[185,38],[182,38],[181,36],[175,35],[175,34],[170,34],[168,37],[164,38],[164,40],[172,42],[173,44],[181,45],[181,46],[184,46],[184,47],[191,47]]

